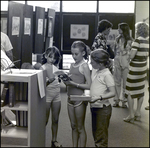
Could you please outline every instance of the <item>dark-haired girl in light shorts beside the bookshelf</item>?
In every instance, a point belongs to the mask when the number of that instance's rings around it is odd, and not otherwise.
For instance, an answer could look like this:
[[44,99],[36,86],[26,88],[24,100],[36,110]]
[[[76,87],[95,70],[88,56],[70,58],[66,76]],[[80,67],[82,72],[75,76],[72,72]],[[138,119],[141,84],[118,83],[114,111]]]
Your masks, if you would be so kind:
[[42,66],[40,69],[47,72],[47,87],[46,87],[46,124],[48,122],[50,108],[52,111],[52,142],[51,147],[62,147],[57,142],[58,119],[61,109],[60,83],[58,78],[54,76],[53,70],[57,69],[61,55],[57,47],[49,47],[43,53]]

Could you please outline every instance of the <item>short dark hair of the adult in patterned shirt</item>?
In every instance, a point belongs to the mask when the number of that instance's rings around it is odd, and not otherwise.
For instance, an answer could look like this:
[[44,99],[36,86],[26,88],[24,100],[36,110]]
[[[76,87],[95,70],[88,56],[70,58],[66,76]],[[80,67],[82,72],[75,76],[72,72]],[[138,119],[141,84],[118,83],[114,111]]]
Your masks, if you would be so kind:
[[113,24],[111,22],[109,22],[106,19],[103,19],[98,22],[97,31],[102,33],[104,30],[106,30],[108,28],[112,28],[112,27],[113,27]]

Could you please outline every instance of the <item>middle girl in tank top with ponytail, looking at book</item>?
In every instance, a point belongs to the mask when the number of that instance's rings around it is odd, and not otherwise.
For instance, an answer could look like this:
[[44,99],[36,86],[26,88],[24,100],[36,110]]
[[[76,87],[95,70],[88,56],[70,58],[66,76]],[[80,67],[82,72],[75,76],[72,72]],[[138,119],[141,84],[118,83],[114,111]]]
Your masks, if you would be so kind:
[[[75,41],[71,46],[71,53],[75,63],[70,67],[71,81],[64,81],[68,93],[68,114],[72,128],[73,147],[86,146],[86,131],[84,127],[86,106],[85,101],[71,101],[70,95],[82,95],[85,89],[90,89],[90,69],[85,62],[88,59],[87,46],[82,41]],[[79,144],[79,146],[78,146]]]

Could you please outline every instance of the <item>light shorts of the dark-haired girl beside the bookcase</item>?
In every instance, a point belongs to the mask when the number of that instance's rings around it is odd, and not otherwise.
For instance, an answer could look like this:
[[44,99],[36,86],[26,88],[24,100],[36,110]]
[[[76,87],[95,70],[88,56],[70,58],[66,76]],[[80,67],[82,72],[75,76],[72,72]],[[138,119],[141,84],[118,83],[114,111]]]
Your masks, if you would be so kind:
[[46,87],[46,102],[59,102],[61,101],[60,87]]

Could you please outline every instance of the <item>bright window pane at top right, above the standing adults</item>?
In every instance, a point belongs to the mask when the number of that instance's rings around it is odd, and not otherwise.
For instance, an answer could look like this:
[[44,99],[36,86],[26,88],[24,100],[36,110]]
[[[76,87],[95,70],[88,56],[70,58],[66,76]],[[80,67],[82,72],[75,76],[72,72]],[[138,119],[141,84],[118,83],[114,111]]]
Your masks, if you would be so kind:
[[99,1],[99,12],[134,13],[135,1]]

